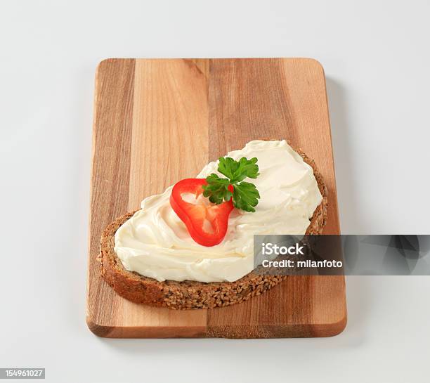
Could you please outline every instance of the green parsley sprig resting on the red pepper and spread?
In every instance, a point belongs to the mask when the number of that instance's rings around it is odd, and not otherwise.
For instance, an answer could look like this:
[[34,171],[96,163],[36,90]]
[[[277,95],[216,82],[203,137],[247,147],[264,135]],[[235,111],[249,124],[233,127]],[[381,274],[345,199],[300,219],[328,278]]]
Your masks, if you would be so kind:
[[[243,180],[259,176],[259,165],[256,162],[255,157],[251,160],[242,157],[239,161],[231,157],[220,157],[218,171],[227,178],[221,178],[215,173],[207,176],[207,185],[203,186],[204,197],[209,197],[209,201],[216,205],[223,201],[230,201],[233,197],[233,205],[237,209],[255,212],[254,207],[259,203],[260,198],[259,190],[254,183]],[[233,193],[228,190],[230,185],[233,186]]]

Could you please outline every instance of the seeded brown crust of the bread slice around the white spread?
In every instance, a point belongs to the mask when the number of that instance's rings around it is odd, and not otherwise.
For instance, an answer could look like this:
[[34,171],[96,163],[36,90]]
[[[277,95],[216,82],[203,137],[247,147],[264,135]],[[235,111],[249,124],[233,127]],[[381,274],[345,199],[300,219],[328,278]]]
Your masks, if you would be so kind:
[[[301,150],[297,152],[313,168],[318,188],[323,195],[323,202],[315,209],[306,234],[321,234],[327,219],[327,187],[313,160]],[[103,279],[119,295],[130,301],[151,306],[166,306],[170,309],[213,309],[246,301],[287,278],[282,275],[257,275],[251,272],[235,282],[202,283],[189,280],[158,282],[133,271],[126,271],[114,251],[115,232],[133,214],[134,212],[120,216],[105,228],[98,257]]]

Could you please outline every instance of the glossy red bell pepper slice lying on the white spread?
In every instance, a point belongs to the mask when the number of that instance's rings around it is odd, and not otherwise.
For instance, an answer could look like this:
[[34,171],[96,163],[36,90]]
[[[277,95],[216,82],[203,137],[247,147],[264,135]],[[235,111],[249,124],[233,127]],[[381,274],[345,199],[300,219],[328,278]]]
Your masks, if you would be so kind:
[[[171,190],[170,205],[185,223],[195,242],[203,246],[214,246],[226,236],[233,201],[214,205],[209,200],[197,200],[203,193],[202,186],[206,184],[204,178],[185,178],[179,181]],[[233,186],[230,187],[233,193]],[[184,200],[184,197],[188,199],[189,196],[194,203]]]

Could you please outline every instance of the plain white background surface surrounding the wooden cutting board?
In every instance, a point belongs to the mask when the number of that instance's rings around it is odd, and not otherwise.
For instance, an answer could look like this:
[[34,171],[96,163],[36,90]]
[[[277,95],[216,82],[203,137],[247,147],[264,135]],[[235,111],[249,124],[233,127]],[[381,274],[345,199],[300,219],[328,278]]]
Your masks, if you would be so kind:
[[0,367],[45,367],[48,382],[428,382],[430,278],[348,278],[348,326],[327,339],[100,339],[85,291],[100,60],[320,60],[342,232],[430,233],[429,16],[429,1],[2,0]]

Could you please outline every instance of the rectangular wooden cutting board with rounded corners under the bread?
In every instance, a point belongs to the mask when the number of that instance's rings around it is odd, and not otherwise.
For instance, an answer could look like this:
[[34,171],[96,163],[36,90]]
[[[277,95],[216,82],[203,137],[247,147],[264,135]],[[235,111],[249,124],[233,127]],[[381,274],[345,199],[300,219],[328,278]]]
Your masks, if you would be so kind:
[[148,195],[256,138],[286,138],[329,190],[339,233],[325,77],[307,58],[107,59],[94,103],[86,321],[100,337],[327,337],[346,325],[344,277],[296,276],[212,310],[133,304],[101,278],[100,234]]

